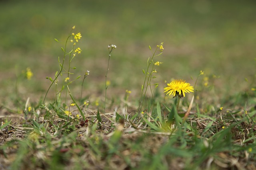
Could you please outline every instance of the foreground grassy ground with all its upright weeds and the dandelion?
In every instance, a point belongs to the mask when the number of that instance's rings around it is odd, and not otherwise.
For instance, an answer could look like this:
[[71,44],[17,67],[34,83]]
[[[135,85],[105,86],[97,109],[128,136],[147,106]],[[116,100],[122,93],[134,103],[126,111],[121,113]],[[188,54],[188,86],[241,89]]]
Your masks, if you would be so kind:
[[[80,81],[80,76],[73,77],[76,67],[72,61],[82,51],[76,47],[82,35],[73,33],[74,29],[75,26],[61,47],[59,70],[54,78],[46,77],[50,86],[43,100],[34,104],[28,98],[24,114],[13,114],[18,121],[0,117],[2,169],[256,169],[256,110],[252,102],[256,94],[252,84],[248,100],[240,99],[245,101],[242,107],[228,107],[232,105],[228,101],[204,101],[207,95],[214,95],[211,82],[216,77],[205,75],[204,71],[200,71],[194,87],[188,83],[193,80],[185,82],[176,77],[159,89],[169,95],[156,97],[154,89],[159,86],[152,80],[156,78],[155,67],[162,64],[156,60],[164,50],[160,43],[148,58],[146,71],[142,70],[145,78],[136,107],[128,105],[131,91],[126,90],[124,106],[108,109],[109,68],[104,99],[98,96],[104,106],[97,99],[93,106],[83,96],[88,70],[81,80],[81,93],[71,92],[72,83]],[[109,65],[116,45],[109,45],[108,49]],[[33,74],[27,68],[25,75],[30,79]],[[54,85],[55,100],[48,101]]]

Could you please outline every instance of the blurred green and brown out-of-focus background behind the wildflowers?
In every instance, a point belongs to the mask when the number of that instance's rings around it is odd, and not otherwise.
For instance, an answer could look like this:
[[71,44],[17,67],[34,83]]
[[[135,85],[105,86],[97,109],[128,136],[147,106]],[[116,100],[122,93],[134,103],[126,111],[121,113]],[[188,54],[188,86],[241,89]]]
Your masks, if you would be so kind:
[[[34,100],[45,94],[50,85],[45,77],[54,77],[62,57],[63,45],[54,38],[64,43],[73,25],[75,33],[82,33],[76,47],[83,50],[72,61],[74,77],[90,70],[84,95],[104,91],[110,43],[117,46],[110,59],[110,96],[126,89],[140,94],[142,69],[153,52],[148,45],[155,49],[161,42],[164,53],[156,60],[163,64],[154,80],[160,89],[171,78],[193,85],[204,70],[219,76],[217,92],[244,90],[256,72],[255,9],[254,0],[1,0],[0,101],[12,100],[16,75],[27,67],[34,76],[18,80],[19,93]],[[81,82],[74,83],[74,92]]]

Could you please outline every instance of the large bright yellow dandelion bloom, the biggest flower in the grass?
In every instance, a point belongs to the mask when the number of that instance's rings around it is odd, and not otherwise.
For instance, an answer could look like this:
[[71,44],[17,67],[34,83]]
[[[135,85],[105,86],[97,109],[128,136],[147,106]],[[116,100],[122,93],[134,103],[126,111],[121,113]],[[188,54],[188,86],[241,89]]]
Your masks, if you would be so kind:
[[164,93],[179,96],[180,98],[185,97],[185,93],[194,92],[193,86],[190,86],[189,83],[186,83],[185,80],[173,80],[167,84],[167,87],[164,88]]

